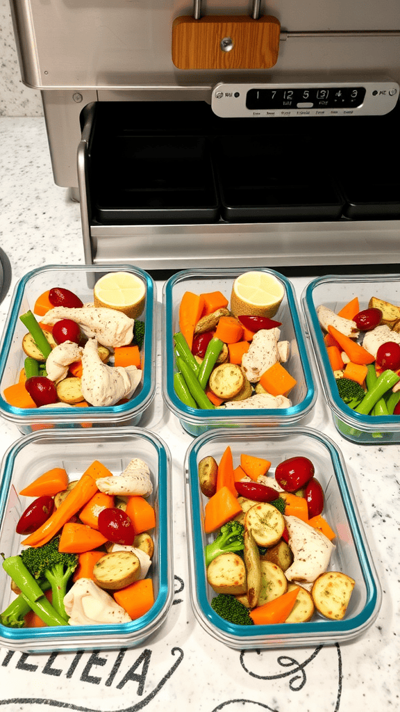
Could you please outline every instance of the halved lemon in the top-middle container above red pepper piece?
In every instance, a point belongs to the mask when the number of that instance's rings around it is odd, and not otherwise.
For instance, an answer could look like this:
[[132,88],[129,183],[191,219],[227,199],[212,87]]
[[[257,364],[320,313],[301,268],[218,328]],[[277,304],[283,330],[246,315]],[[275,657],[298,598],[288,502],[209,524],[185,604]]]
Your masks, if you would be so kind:
[[244,272],[233,282],[231,312],[272,318],[285,295],[283,284],[263,271]]

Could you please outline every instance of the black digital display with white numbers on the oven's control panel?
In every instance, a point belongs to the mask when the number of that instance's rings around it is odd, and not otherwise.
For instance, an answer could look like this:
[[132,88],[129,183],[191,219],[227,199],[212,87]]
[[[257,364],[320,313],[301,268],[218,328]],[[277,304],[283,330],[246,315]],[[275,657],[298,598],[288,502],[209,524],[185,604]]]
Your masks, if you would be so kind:
[[307,89],[250,89],[248,109],[347,109],[361,106],[364,87],[322,87]]

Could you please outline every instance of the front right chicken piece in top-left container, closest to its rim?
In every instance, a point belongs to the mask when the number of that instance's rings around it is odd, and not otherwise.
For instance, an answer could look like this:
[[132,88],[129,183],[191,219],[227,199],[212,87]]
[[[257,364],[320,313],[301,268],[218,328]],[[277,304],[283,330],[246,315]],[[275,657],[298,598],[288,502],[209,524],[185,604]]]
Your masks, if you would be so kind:
[[136,366],[112,367],[98,355],[98,342],[89,339],[82,355],[80,387],[84,399],[94,406],[114,405],[122,398],[130,398],[142,379]]

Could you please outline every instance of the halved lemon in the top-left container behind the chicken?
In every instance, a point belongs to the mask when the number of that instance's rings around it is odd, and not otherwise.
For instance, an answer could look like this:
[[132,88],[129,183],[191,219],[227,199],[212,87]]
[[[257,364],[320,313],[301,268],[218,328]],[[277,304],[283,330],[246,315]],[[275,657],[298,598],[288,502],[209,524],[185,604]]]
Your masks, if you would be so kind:
[[146,287],[130,272],[110,272],[100,277],[93,289],[95,307],[107,307],[137,319],[144,310]]

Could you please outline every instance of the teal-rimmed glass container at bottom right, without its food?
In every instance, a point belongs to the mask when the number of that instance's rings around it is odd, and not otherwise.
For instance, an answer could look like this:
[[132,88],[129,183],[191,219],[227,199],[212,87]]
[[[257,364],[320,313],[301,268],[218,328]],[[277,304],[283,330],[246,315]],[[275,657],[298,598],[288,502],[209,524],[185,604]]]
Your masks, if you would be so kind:
[[[307,623],[247,626],[226,622],[214,612],[211,599],[215,593],[206,579],[204,546],[216,538],[216,533],[204,533],[207,500],[200,490],[198,467],[206,456],[213,456],[219,463],[227,446],[231,447],[235,466],[241,453],[270,460],[268,475],[273,475],[278,463],[293,456],[305,456],[312,461],[315,477],[325,493],[323,515],[336,533],[329,568],[355,580],[344,619],[330,620],[315,613]],[[191,604],[197,621],[212,637],[235,649],[334,644],[354,639],[374,623],[381,605],[381,588],[342,454],[329,438],[300,427],[251,433],[246,429],[221,429],[193,441],[186,452],[185,472]]]

